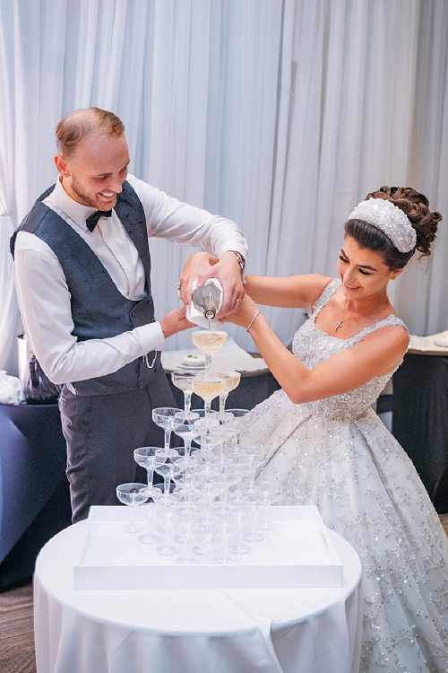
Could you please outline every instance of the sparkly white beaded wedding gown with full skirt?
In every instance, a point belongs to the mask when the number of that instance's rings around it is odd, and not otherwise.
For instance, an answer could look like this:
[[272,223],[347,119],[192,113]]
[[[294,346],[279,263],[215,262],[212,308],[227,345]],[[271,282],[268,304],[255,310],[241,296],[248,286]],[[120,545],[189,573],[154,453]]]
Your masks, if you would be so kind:
[[[315,318],[336,292],[327,285],[293,340],[308,369],[355,337],[325,334]],[[263,450],[257,480],[282,482],[279,504],[318,507],[363,564],[362,673],[447,673],[448,539],[415,468],[371,408],[392,374],[343,395],[294,405],[280,390],[251,412],[247,431]],[[422,447],[424,450],[424,447]]]

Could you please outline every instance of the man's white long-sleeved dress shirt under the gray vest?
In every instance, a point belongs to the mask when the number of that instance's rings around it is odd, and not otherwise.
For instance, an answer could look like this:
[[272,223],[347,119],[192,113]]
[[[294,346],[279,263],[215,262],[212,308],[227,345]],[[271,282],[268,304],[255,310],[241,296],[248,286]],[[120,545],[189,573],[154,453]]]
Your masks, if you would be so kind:
[[[127,180],[142,202],[148,238],[158,236],[180,245],[202,247],[218,257],[227,250],[237,250],[246,257],[246,240],[236,223],[181,203],[132,175]],[[89,232],[85,221],[96,208],[74,201],[59,180],[44,204],[85,240],[120,293],[133,301],[145,296],[142,260],[115,210],[110,218],[100,218]],[[116,337],[77,341],[72,334],[70,292],[64,271],[53,250],[35,234],[18,233],[15,267],[25,333],[42,369],[55,383],[104,376],[163,347],[165,337],[159,322]]]

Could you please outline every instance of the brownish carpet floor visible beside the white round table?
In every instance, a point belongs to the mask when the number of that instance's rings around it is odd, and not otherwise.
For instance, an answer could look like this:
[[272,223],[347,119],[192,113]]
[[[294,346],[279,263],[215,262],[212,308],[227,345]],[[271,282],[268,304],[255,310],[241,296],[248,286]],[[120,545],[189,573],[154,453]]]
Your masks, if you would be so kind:
[[[448,535],[448,514],[440,520]],[[0,671],[36,673],[30,582],[0,594]]]

